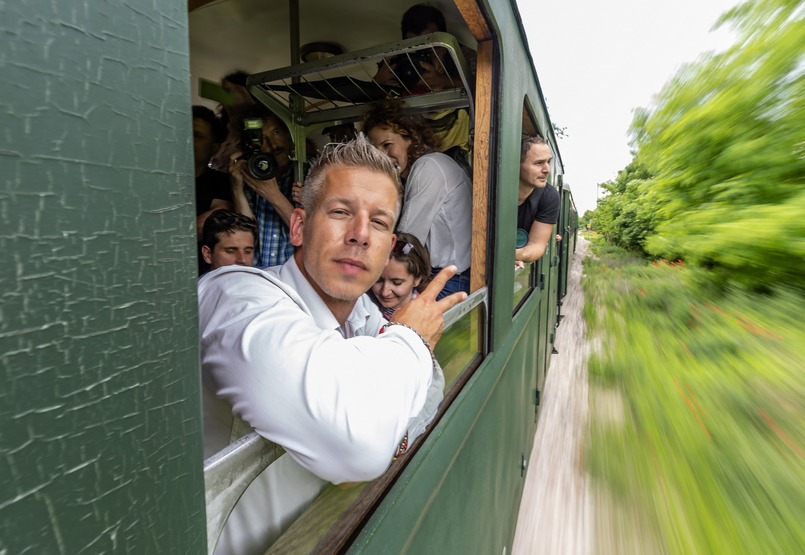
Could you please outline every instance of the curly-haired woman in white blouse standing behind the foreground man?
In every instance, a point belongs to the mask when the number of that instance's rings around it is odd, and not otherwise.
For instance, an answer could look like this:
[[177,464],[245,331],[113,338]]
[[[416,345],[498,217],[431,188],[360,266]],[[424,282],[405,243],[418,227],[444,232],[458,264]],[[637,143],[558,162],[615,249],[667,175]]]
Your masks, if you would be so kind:
[[398,229],[428,248],[432,275],[448,266],[458,268],[442,295],[469,293],[472,184],[466,172],[438,152],[439,140],[422,116],[404,113],[401,103],[372,105],[363,132],[392,159],[405,183]]

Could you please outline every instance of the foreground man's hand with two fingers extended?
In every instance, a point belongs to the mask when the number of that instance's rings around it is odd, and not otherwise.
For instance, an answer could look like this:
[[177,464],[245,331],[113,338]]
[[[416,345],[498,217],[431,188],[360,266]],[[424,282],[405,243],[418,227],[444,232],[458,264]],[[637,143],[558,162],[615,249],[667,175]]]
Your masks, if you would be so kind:
[[431,347],[435,347],[444,331],[444,313],[467,298],[467,294],[460,291],[440,301],[436,300],[444,284],[457,271],[455,266],[449,266],[439,272],[421,295],[394,312],[392,321],[414,328]]

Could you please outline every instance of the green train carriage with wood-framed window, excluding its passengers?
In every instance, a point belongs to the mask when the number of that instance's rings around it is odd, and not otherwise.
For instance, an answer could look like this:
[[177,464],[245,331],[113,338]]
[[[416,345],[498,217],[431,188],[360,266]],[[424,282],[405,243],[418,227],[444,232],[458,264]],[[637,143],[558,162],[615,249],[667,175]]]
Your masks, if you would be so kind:
[[[208,549],[209,517],[226,509],[205,502],[189,114],[196,78],[239,63],[212,72],[216,44],[237,41],[204,20],[271,22],[243,33],[263,80],[298,78],[288,45],[303,40],[341,42],[349,57],[438,39],[460,61],[449,36],[393,42],[411,3],[193,0],[189,16],[171,0],[0,6],[0,552]],[[451,385],[415,450],[375,482],[325,490],[275,553],[502,553],[514,535],[576,215],[516,6],[437,5],[478,52],[474,83],[408,99],[473,116],[474,295],[437,346]],[[286,121],[299,144],[333,120],[305,120],[296,102]],[[516,272],[520,138],[534,132],[555,154],[564,240]],[[251,445],[264,461],[279,449]]]

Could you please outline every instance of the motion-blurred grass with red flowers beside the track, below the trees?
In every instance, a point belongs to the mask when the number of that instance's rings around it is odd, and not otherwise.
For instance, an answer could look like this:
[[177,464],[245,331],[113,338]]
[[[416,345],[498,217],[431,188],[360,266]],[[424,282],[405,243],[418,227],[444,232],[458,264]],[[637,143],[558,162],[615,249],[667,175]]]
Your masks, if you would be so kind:
[[805,300],[591,252],[590,383],[619,399],[617,417],[591,412],[591,474],[662,552],[805,553]]

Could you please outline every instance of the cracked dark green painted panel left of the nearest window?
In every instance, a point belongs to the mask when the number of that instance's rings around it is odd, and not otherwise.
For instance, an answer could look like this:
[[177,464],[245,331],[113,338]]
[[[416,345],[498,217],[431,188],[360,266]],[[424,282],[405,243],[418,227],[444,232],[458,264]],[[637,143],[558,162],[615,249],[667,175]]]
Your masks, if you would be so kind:
[[0,554],[205,550],[186,10],[0,0]]

